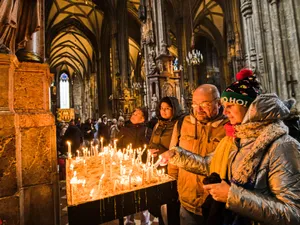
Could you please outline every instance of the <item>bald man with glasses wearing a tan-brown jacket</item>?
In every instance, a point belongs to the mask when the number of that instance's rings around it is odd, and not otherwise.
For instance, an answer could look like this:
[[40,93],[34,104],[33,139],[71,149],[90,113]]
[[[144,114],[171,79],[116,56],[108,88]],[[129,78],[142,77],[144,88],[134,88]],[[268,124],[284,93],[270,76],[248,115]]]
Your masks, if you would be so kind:
[[[182,122],[180,133],[174,127],[170,148],[176,145],[203,157],[212,153],[225,136],[220,93],[216,86],[203,84],[193,93],[192,112]],[[169,175],[177,179],[181,225],[203,224],[201,205],[208,193],[204,191],[203,176],[169,165]]]

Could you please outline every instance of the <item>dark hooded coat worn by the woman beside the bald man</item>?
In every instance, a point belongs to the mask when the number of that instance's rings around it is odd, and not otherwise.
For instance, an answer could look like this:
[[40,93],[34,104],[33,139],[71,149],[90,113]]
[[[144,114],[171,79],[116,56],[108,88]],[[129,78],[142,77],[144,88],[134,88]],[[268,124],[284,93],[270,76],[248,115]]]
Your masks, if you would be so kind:
[[[173,116],[169,120],[163,119],[160,114],[160,106],[161,103],[164,102],[164,100],[166,100],[165,98],[167,98],[168,101],[171,102],[171,107],[173,109]],[[158,118],[158,122],[154,126],[152,136],[148,146],[149,149],[158,149],[159,150],[158,155],[169,150],[174,125],[179,119],[183,119],[184,117],[184,114],[182,112],[182,109],[179,105],[177,98],[175,97],[165,97],[165,98],[161,99],[160,103],[156,108],[156,115]]]

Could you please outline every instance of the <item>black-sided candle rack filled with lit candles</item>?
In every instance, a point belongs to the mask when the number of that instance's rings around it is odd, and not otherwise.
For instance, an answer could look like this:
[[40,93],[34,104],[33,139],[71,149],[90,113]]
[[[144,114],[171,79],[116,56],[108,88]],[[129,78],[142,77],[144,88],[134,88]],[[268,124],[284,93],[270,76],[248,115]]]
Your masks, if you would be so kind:
[[[147,154],[146,163],[141,155]],[[152,162],[151,162],[152,161]],[[158,170],[160,159],[131,148],[116,151],[86,150],[66,161],[66,187],[70,225],[100,224],[145,209],[159,211],[160,205],[177,200],[176,181]],[[91,221],[93,220],[93,221]]]

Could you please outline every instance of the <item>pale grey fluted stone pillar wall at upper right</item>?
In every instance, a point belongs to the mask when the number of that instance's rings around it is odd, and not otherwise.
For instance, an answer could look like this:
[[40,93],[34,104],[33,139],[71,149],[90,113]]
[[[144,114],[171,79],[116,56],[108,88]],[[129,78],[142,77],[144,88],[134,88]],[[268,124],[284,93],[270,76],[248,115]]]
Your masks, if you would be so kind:
[[268,92],[296,98],[298,109],[299,10],[299,0],[241,0],[246,64],[259,72]]

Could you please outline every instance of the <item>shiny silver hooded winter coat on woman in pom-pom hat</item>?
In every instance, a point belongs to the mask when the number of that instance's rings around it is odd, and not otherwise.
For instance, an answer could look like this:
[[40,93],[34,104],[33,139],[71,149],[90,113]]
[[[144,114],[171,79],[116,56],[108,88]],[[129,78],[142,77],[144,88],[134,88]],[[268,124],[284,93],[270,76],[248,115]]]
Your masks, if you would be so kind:
[[[252,102],[241,125],[235,126],[226,207],[246,218],[246,224],[300,224],[300,144],[281,121],[288,114],[275,94],[264,94]],[[209,173],[210,157],[178,149],[173,158],[172,163],[188,171]]]

